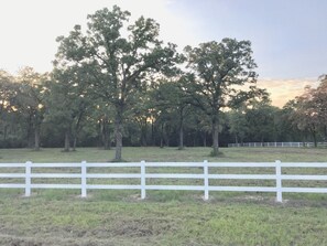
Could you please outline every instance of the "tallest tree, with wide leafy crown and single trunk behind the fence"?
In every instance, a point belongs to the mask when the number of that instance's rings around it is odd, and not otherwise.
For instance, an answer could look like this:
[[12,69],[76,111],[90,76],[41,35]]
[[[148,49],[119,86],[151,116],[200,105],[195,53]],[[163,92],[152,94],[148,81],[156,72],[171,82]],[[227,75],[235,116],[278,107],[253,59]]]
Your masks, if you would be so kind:
[[116,157],[121,160],[122,127],[127,110],[146,87],[151,73],[166,72],[177,61],[175,45],[163,46],[159,24],[139,18],[128,25],[130,12],[115,6],[88,15],[83,34],[76,25],[69,36],[57,39],[57,62],[79,64],[88,71],[95,93],[115,109]]

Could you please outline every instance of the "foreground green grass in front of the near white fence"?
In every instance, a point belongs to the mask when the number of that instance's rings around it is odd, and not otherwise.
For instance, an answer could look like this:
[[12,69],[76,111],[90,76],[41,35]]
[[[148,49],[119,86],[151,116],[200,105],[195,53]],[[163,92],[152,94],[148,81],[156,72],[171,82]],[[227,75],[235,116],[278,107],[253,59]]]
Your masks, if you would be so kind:
[[1,245],[326,245],[326,207],[35,196],[0,203]]

